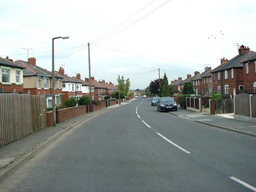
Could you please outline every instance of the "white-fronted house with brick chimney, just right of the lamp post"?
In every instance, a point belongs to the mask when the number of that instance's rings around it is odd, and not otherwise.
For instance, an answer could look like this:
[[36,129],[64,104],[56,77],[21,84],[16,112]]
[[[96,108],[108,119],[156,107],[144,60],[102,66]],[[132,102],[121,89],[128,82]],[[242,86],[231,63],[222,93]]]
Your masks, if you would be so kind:
[[62,79],[62,100],[69,97],[80,99],[82,97],[82,82],[64,74],[64,68],[60,67],[59,71],[55,71],[55,75],[61,76]]

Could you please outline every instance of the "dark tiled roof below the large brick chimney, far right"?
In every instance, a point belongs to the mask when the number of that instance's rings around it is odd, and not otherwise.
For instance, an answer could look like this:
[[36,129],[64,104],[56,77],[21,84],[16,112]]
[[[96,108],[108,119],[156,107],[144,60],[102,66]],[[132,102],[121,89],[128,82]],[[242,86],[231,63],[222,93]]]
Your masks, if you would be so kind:
[[249,52],[243,53],[241,55],[237,55],[234,58],[232,58],[231,60],[229,60],[228,62],[226,62],[225,64],[220,65],[220,66],[216,67],[215,69],[213,69],[211,71],[211,73],[227,70],[227,69],[234,68],[234,67],[243,67],[243,64],[241,62],[243,60],[250,58],[254,54],[255,54],[254,51],[249,51]]

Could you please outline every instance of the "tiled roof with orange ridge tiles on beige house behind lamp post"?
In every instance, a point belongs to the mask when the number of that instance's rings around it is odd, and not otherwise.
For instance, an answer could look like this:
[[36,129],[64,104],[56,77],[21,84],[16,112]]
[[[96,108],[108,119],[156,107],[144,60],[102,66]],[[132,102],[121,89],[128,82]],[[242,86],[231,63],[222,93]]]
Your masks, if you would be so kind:
[[[26,67],[23,70],[23,75],[24,76],[31,76],[31,75],[45,76],[45,77],[51,77],[52,76],[52,72],[50,72],[46,69],[43,69],[39,66],[31,65],[27,61],[17,60],[17,61],[15,61],[15,63]],[[62,77],[61,76],[56,76],[56,78],[62,78]]]

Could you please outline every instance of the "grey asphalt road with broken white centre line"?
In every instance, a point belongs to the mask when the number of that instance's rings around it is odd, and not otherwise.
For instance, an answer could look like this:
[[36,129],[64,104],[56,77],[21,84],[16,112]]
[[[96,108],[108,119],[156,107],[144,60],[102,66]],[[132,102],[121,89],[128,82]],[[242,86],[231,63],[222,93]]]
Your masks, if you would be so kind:
[[250,192],[255,149],[254,137],[158,112],[139,98],[77,124],[0,191]]

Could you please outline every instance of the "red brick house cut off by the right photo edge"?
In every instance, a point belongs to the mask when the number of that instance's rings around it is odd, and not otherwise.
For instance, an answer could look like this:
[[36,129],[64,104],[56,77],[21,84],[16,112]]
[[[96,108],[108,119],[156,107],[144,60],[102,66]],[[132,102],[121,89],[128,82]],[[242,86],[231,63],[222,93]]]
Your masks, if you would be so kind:
[[241,62],[243,64],[244,91],[256,94],[256,53]]

